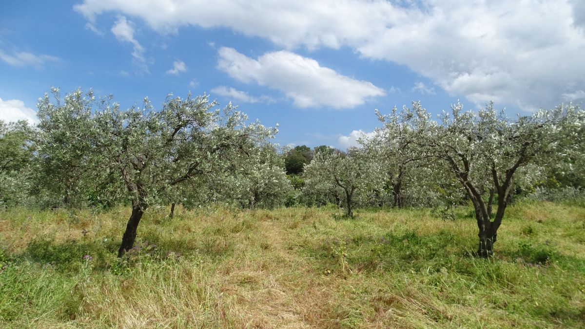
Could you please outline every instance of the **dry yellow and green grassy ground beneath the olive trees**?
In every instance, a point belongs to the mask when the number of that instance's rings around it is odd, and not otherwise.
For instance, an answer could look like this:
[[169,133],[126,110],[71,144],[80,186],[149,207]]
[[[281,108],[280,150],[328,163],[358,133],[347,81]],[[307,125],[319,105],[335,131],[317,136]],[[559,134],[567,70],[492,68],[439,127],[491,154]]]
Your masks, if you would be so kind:
[[510,207],[493,259],[469,208],[166,213],[119,260],[129,209],[0,212],[0,326],[585,327],[583,207]]

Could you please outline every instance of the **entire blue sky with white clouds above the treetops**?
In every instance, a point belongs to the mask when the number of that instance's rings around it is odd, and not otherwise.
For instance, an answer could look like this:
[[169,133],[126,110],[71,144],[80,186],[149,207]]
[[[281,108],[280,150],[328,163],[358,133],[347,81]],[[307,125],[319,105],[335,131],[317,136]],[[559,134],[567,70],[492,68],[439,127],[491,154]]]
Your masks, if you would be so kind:
[[207,92],[345,148],[389,112],[460,99],[528,113],[585,99],[585,1],[3,1],[0,120],[93,88],[122,108]]

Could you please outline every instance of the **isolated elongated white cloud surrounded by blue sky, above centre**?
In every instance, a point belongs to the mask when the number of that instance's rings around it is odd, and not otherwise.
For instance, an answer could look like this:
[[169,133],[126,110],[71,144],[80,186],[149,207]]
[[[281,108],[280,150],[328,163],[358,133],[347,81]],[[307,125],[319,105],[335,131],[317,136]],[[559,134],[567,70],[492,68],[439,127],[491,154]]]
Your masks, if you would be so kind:
[[218,68],[242,82],[278,89],[300,108],[353,108],[385,92],[371,84],[322,67],[290,51],[266,53],[255,60],[233,48],[219,49]]

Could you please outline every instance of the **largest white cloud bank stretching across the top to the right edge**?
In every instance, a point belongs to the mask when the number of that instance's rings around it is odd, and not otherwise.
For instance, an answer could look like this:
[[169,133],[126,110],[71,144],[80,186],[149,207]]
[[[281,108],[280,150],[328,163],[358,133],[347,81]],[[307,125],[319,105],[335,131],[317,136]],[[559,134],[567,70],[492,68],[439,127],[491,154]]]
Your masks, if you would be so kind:
[[452,95],[481,104],[550,107],[585,89],[581,0],[285,1],[83,0],[89,22],[104,12],[142,18],[160,33],[228,27],[292,50],[350,47],[406,65]]

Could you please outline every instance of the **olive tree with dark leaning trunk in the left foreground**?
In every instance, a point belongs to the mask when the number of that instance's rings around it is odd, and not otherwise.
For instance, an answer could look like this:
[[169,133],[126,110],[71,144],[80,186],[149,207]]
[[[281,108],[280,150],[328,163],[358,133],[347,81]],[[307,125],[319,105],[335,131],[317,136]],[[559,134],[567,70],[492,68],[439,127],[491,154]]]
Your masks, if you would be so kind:
[[96,161],[118,170],[132,203],[118,257],[133,247],[149,206],[167,203],[191,180],[223,171],[240,159],[236,155],[246,154],[250,143],[277,132],[259,122],[247,124],[247,116],[231,103],[223,110],[217,105],[207,95],[169,95],[160,110],[144,99],[142,108],[122,111],[113,104],[95,113]]

